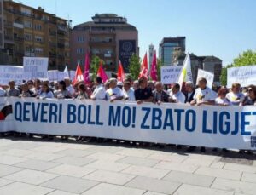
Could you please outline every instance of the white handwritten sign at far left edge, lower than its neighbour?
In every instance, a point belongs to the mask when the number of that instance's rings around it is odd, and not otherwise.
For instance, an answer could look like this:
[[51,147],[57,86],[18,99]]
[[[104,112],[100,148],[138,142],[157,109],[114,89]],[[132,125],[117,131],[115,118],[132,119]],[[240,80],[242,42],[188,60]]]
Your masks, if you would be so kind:
[[15,84],[21,84],[23,79],[22,66],[0,66],[0,84],[8,84],[9,81],[15,81]]

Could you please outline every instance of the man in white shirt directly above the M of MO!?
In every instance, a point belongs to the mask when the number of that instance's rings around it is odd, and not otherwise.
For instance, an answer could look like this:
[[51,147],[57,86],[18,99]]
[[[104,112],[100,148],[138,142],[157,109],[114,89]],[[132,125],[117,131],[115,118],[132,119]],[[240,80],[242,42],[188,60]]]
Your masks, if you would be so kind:
[[106,91],[107,100],[122,100],[123,99],[123,91],[117,87],[117,79],[110,78],[109,79],[109,89]]

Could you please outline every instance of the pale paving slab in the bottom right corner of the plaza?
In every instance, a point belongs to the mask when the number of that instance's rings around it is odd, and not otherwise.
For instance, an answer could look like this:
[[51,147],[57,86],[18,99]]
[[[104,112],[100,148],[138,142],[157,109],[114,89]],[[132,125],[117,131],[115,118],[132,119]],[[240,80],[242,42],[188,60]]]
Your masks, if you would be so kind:
[[226,179],[217,178],[213,181],[212,188],[231,191],[241,192],[254,195],[256,192],[255,183],[249,183],[244,181],[231,181]]

